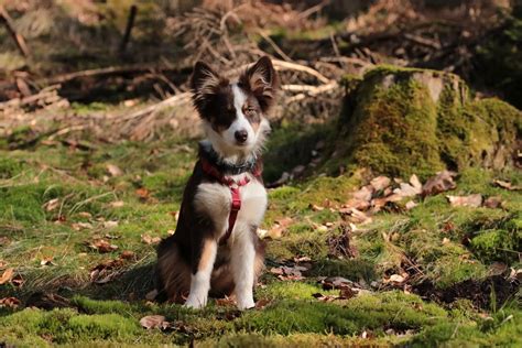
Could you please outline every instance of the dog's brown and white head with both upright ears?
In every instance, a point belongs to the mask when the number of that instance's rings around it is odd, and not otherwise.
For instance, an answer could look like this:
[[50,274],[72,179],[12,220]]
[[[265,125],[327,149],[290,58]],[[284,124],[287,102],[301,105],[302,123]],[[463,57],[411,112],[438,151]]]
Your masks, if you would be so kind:
[[214,148],[224,156],[257,152],[270,131],[265,118],[273,106],[278,76],[269,57],[230,83],[207,64],[197,62],[192,76],[193,101]]

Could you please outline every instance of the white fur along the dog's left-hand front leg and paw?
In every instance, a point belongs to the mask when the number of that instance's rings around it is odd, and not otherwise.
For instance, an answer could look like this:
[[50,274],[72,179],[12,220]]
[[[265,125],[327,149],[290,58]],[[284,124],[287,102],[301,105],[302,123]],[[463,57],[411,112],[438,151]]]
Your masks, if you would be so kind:
[[214,269],[214,261],[216,260],[217,243],[209,243],[210,248],[208,263],[206,267],[192,275],[191,292],[185,302],[186,307],[203,308],[207,304],[208,291],[210,290],[210,275]]

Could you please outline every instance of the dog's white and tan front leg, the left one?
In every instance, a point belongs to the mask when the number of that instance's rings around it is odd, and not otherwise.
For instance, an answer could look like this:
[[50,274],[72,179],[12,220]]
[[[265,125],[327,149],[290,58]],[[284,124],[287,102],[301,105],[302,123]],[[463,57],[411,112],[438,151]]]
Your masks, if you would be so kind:
[[207,238],[203,240],[202,244],[202,251],[192,274],[191,292],[185,303],[186,307],[203,308],[207,304],[217,242],[211,238]]

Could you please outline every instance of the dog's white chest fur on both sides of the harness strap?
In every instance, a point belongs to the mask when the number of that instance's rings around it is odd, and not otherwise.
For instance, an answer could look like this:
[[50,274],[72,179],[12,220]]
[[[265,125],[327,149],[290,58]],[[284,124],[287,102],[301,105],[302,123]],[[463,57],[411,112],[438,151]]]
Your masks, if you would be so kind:
[[[241,177],[238,177],[239,180]],[[241,208],[236,226],[259,226],[267,210],[267,191],[253,177],[239,188]],[[230,188],[220,183],[204,183],[197,187],[194,205],[198,213],[209,216],[219,235],[228,229],[228,218],[232,203]],[[235,228],[236,229],[236,228]]]

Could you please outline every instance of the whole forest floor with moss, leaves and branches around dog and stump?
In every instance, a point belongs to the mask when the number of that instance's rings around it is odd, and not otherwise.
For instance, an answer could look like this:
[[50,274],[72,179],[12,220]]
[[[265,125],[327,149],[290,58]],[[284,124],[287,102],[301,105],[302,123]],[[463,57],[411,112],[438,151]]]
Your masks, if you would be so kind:
[[[488,1],[381,0],[342,22],[320,7],[180,15],[157,2],[117,52],[131,1],[4,2],[31,56],[0,32],[0,348],[522,346],[520,168],[326,168],[347,77],[378,64],[453,72],[474,98],[520,108],[520,18]],[[197,155],[192,66],[231,73],[264,54],[283,93],[257,307],[159,303],[155,247]]]

